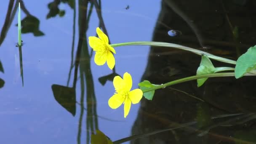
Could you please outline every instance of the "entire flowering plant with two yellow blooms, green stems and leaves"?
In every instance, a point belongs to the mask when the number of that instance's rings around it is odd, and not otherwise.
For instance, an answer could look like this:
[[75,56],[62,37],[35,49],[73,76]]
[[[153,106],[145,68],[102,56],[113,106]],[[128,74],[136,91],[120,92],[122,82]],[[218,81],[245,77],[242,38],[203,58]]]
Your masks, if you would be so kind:
[[[197,75],[181,78],[179,80],[174,80],[165,84],[156,85],[152,84],[147,80],[144,80],[143,82],[139,83],[139,87],[141,91],[143,92],[143,96],[148,99],[152,100],[155,90],[160,88],[165,88],[166,86],[175,85],[178,83],[184,83],[190,80],[197,80],[197,87],[200,87],[205,83],[205,81],[209,77],[233,77],[240,78],[242,76],[252,76],[256,74],[256,46],[251,47],[248,49],[248,51],[240,56],[237,61],[226,59],[220,56],[215,56],[211,53],[207,53],[205,51],[200,51],[194,48],[189,48],[183,45],[177,45],[173,43],[163,43],[163,42],[128,42],[128,43],[117,43],[117,44],[111,44],[109,45],[108,37],[105,35],[99,28],[96,29],[98,37],[89,37],[89,44],[93,48],[93,51],[96,51],[95,55],[95,63],[97,65],[103,65],[106,61],[110,69],[112,69],[115,65],[115,59],[112,54],[115,53],[114,47],[118,46],[125,46],[125,45],[150,45],[150,46],[161,46],[161,47],[170,47],[170,48],[178,48],[184,51],[190,51],[192,53],[198,54],[202,56],[202,60],[200,62],[200,65],[197,69]],[[214,59],[216,61],[221,61],[227,64],[235,64],[234,67],[214,67],[211,60]],[[223,71],[235,71],[235,72],[223,72]],[[127,73],[128,74],[128,73]],[[125,73],[125,75],[127,75]],[[134,104],[135,99],[128,96],[128,92],[130,91],[129,88],[125,89],[125,85],[127,85],[127,82],[125,82],[125,76],[124,80],[116,76],[114,78],[114,86],[116,88],[117,93],[112,96],[109,99],[109,106],[112,109],[116,109],[117,107],[120,107],[122,103],[125,104],[124,110],[125,110],[125,117],[128,115],[128,112],[131,107],[131,102]],[[117,85],[119,83],[119,85]],[[121,84],[121,86],[120,86]],[[127,86],[126,86],[127,87]],[[137,90],[138,96],[140,94],[139,90]],[[128,98],[128,99],[127,99]],[[131,100],[129,100],[131,99]],[[141,99],[141,98],[140,98]],[[140,101],[139,97],[136,97],[136,103]]]

